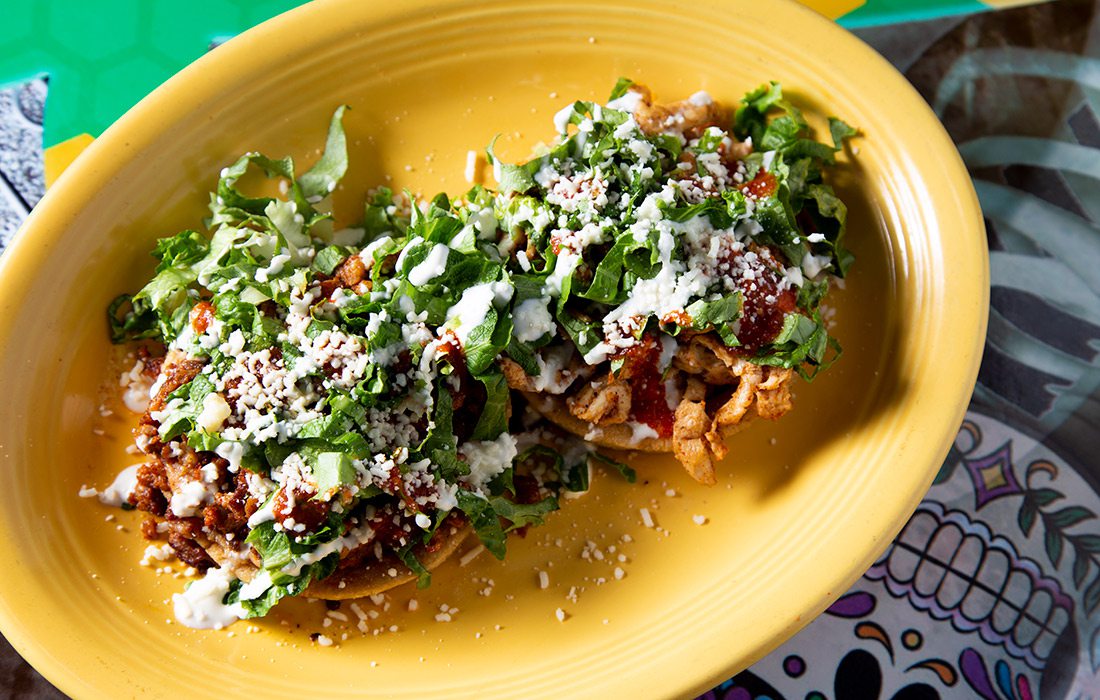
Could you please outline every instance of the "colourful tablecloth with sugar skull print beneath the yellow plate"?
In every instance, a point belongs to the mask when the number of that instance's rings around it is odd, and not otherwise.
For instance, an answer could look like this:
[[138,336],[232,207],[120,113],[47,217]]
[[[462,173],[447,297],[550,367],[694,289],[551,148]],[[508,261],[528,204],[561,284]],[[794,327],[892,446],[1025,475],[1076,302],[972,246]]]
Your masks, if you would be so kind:
[[[42,196],[44,144],[97,133],[180,54],[294,2],[89,4],[3,9],[0,80],[18,80],[0,89],[0,244]],[[705,697],[1100,698],[1100,0],[807,4],[859,28],[958,144],[988,228],[989,339],[966,422],[901,535],[825,614]],[[75,51],[105,15],[124,34],[107,6],[133,11],[133,44]],[[187,26],[147,50],[168,7]],[[0,697],[61,693],[4,644]]]

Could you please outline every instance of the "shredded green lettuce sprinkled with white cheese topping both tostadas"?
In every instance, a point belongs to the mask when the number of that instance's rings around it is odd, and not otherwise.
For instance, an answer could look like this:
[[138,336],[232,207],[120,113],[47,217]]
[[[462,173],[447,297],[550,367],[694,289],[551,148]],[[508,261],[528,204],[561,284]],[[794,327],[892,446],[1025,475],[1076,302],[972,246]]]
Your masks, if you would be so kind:
[[[609,99],[634,87],[622,78]],[[784,289],[784,303],[795,300],[778,335],[746,350],[738,333],[751,296],[712,275],[689,289],[682,314],[659,318],[641,307],[620,341],[714,332],[752,362],[806,379],[840,354],[821,314],[828,277],[817,272],[843,277],[854,256],[845,245],[847,209],[824,173],[857,131],[831,119],[831,143],[816,141],[776,83],[748,94],[730,124],[691,138],[647,135],[625,109],[576,101],[561,114],[559,139],[525,163],[502,162],[495,140],[488,144],[496,189],[474,186],[458,199],[440,194],[421,201],[378,187],[367,194],[360,221],[333,231],[329,198],[348,171],[345,110],[334,110],[323,153],[304,173],[289,156],[255,152],[223,168],[210,198],[209,233],[185,230],[160,240],[150,281],[108,308],[112,341],[158,341],[205,363],[157,413],[163,440],[227,460],[232,455],[234,471],[268,485],[293,471],[311,499],[339,501],[308,532],[275,521],[250,529],[245,543],[272,583],[241,600],[237,581],[226,600],[249,616],[329,576],[336,554],[298,565],[380,513],[416,523],[388,539],[386,553],[427,586],[418,547],[450,512],[503,558],[509,533],[543,523],[562,492],[588,489],[590,464],[634,482],[629,466],[591,449],[540,444],[512,458],[515,440],[505,434],[522,416],[513,415],[501,359],[541,380],[563,347],[581,356],[597,351],[607,319],[639,285],[656,294],[654,281],[667,283],[670,270],[691,272],[698,258],[690,258],[685,241],[700,230],[748,241],[745,250],[774,251],[771,272],[798,280]],[[730,174],[734,184],[713,196],[668,185],[713,178],[735,140],[747,139],[752,153]],[[250,192],[257,175],[277,181],[270,184],[283,194]],[[594,194],[573,197],[583,187]],[[527,316],[516,310],[524,304]],[[354,351],[339,361],[318,352],[340,343]],[[297,392],[309,411],[292,419],[270,408],[253,426],[211,427],[207,398],[228,392],[227,373],[240,369],[242,354],[284,372],[272,386]],[[615,371],[623,364],[622,357],[605,359]],[[388,425],[392,416],[405,423]],[[507,449],[492,452],[498,439]],[[506,463],[472,469],[471,445]],[[435,497],[425,496],[435,486],[441,486]]]

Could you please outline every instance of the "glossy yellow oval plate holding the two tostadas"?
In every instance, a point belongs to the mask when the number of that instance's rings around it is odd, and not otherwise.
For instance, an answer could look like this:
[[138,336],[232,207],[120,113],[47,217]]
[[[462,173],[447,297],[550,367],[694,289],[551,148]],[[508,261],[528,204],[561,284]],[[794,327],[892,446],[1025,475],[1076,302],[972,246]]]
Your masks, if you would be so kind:
[[[170,622],[185,581],[139,566],[138,514],[77,497],[133,459],[103,309],[151,273],[154,239],[198,226],[239,153],[316,157],[340,102],[352,166],[336,205],[353,221],[381,183],[463,192],[468,150],[502,133],[519,160],[558,109],[605,99],[618,76],[666,100],[706,89],[727,102],[778,79],[807,112],[862,130],[834,178],[858,255],[831,302],[840,362],[799,385],[790,416],[738,436],[714,488],[638,459],[638,484],[601,475],[514,538],[506,562],[482,555],[427,591],[345,604],[346,623],[323,626],[307,601],[232,633]],[[0,267],[0,625],[80,698],[704,690],[820,613],[900,528],[970,396],[988,305],[978,205],[939,124],[871,50],[777,0],[311,3],[130,111]]]

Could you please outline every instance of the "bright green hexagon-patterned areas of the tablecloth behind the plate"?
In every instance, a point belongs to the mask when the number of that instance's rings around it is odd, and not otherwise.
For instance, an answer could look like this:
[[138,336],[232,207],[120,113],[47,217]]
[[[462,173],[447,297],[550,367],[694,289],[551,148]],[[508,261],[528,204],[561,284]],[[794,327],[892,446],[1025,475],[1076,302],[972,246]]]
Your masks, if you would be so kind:
[[[301,0],[8,1],[0,11],[0,86],[48,76],[45,145],[100,134],[211,44]],[[978,0],[868,0],[848,28],[989,9]]]

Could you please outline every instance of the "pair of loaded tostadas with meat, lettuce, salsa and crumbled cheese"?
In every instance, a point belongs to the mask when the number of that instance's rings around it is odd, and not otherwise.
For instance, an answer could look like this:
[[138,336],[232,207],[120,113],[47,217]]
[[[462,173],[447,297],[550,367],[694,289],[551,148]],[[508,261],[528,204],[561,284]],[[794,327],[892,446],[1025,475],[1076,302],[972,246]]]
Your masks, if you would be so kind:
[[[777,84],[729,111],[620,80],[528,162],[491,145],[495,189],[380,187],[336,230],[343,112],[304,174],[223,168],[208,233],[160,240],[109,309],[145,461],[81,495],[145,512],[155,558],[202,572],[186,625],[427,586],[466,534],[503,557],[591,464],[634,480],[603,447],[713,483],[725,438],[839,353],[821,304],[853,256],[823,172],[855,131],[815,141]],[[250,168],[284,195],[243,192]]]

